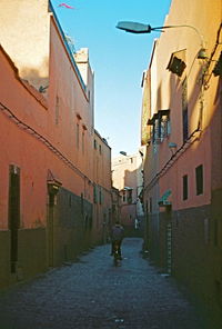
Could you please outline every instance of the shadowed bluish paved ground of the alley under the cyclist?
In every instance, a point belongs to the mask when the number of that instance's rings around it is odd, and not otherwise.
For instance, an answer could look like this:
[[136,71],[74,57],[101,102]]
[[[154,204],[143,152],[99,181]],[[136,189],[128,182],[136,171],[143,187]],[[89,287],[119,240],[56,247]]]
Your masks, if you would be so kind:
[[214,329],[141,248],[141,239],[125,239],[124,259],[114,267],[110,246],[97,247],[0,293],[0,329]]

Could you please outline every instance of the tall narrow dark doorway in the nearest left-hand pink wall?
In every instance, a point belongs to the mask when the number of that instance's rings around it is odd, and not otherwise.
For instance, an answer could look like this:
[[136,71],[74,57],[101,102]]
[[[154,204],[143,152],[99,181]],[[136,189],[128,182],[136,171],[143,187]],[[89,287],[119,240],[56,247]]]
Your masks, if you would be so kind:
[[18,262],[18,230],[20,227],[20,169],[9,168],[9,229],[10,229],[10,261],[11,272],[17,270]]

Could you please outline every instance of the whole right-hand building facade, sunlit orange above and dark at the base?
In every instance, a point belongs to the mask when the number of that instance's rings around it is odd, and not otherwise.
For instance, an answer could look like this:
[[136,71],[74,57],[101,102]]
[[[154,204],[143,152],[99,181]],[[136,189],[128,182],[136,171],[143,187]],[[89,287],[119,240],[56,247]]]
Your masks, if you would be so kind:
[[[209,22],[211,22],[209,24]],[[150,257],[222,307],[222,2],[172,0],[143,76]]]

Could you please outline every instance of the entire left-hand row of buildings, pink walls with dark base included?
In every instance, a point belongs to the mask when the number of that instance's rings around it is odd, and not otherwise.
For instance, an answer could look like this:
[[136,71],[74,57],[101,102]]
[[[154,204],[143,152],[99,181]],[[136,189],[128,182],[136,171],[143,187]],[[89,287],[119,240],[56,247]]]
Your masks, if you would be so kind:
[[29,4],[0,3],[1,287],[102,242],[111,212],[111,150],[94,129],[88,50],[71,52],[50,2]]

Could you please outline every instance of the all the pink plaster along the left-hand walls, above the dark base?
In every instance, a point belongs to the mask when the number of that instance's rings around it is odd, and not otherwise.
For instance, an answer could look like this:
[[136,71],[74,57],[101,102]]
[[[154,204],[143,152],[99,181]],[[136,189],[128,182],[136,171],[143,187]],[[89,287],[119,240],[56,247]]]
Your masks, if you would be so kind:
[[[0,228],[7,229],[9,164],[21,170],[21,222],[31,228],[47,221],[47,179],[49,170],[62,186],[77,196],[83,193],[93,202],[93,114],[92,106],[81,80],[63,46],[60,31],[51,17],[50,84],[48,99],[22,82],[13,63],[1,49],[0,100],[24,124],[37,134],[14,124],[1,112],[0,159],[2,198],[0,205]],[[16,78],[16,79],[14,79]],[[12,92],[13,91],[13,92]],[[59,104],[57,104],[59,99]],[[93,101],[93,99],[92,99]],[[58,106],[58,108],[57,108]],[[57,113],[56,113],[57,111]],[[79,123],[79,147],[77,146],[77,123]],[[82,148],[82,132],[84,148]],[[39,137],[43,137],[52,148]],[[60,152],[60,156],[58,154]],[[110,152],[110,148],[109,148]],[[108,153],[109,153],[108,152]],[[105,154],[110,163],[110,154]],[[62,154],[62,156],[61,156]],[[99,171],[99,176],[104,172]],[[102,183],[109,189],[109,175]],[[102,178],[98,178],[102,180]]]

